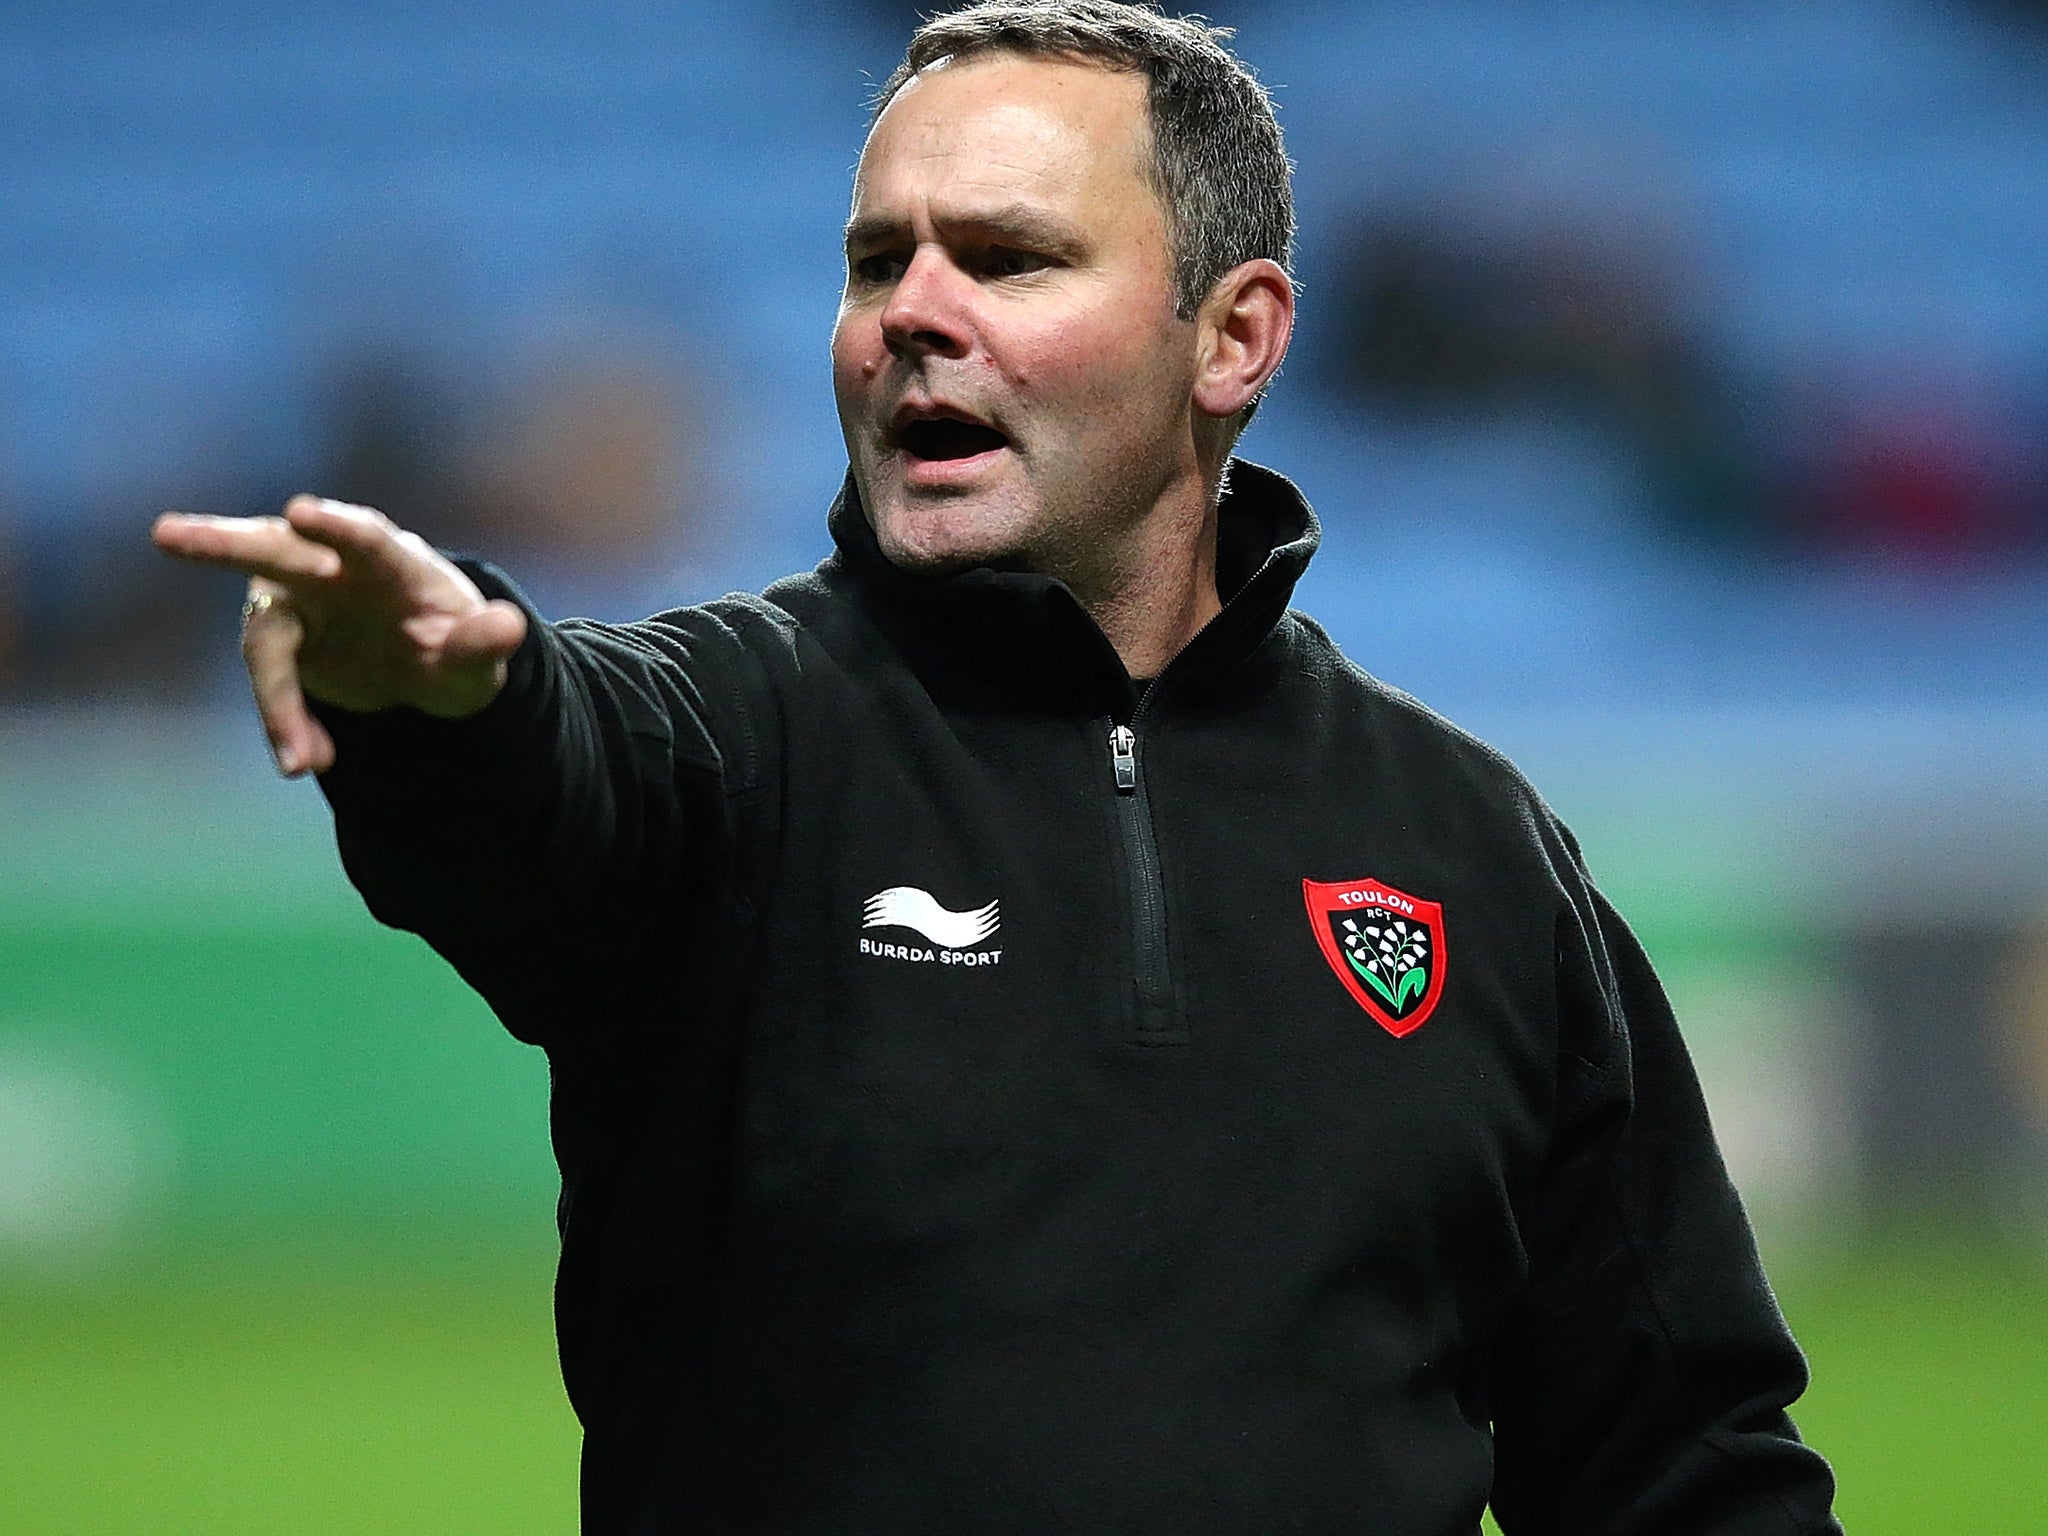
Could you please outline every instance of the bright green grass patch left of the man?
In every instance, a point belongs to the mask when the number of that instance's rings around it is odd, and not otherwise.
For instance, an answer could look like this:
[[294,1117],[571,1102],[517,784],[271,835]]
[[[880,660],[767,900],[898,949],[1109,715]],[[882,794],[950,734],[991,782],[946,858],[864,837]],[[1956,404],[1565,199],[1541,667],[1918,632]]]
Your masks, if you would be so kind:
[[6,1536],[575,1530],[545,1253],[182,1262],[0,1315]]

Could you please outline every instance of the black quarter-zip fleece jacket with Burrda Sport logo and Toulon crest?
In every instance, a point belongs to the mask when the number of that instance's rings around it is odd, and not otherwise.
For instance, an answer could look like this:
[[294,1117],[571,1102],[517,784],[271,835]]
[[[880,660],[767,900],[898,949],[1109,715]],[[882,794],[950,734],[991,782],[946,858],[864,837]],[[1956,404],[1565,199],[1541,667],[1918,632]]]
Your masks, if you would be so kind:
[[1837,1530],[1649,963],[1288,612],[1288,481],[1143,692],[1057,582],[831,532],[324,711],[371,911],[549,1055],[586,1530]]

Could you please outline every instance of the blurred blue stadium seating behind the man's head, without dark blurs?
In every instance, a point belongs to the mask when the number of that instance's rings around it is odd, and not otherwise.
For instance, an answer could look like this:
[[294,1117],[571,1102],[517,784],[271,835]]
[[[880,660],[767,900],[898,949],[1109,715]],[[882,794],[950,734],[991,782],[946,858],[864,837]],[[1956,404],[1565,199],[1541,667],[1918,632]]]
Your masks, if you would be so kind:
[[[61,565],[190,487],[295,485],[348,346],[489,377],[600,309],[686,336],[725,401],[750,539],[698,580],[807,563],[842,463],[823,342],[862,104],[899,43],[885,10],[6,6],[0,532]],[[1247,453],[1331,524],[1309,600],[1339,637],[1450,705],[2048,700],[2038,555],[1716,563],[1569,424],[1337,399],[1319,309],[1374,211],[1618,209],[1679,244],[1737,379],[1962,371],[2038,428],[2038,37],[1907,0],[1237,10],[1305,221],[1298,356]]]

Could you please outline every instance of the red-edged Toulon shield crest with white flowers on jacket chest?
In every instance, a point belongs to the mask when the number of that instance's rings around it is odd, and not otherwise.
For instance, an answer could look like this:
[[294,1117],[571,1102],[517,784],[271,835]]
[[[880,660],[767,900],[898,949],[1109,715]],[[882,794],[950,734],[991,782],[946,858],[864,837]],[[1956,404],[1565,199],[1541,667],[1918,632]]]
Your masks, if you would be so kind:
[[1401,1038],[1444,995],[1444,907],[1382,881],[1303,881],[1315,942],[1352,1001]]

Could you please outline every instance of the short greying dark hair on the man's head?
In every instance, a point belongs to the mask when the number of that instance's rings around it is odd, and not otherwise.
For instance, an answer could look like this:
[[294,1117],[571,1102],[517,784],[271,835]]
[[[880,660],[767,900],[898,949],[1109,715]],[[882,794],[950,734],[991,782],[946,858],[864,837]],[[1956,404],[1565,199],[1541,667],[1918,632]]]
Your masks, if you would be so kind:
[[1145,76],[1151,182],[1165,209],[1174,311],[1194,319],[1225,272],[1294,250],[1292,166],[1272,96],[1225,47],[1229,27],[1118,0],[981,0],[932,16],[874,96],[874,117],[920,70],[977,53],[1079,59]]

